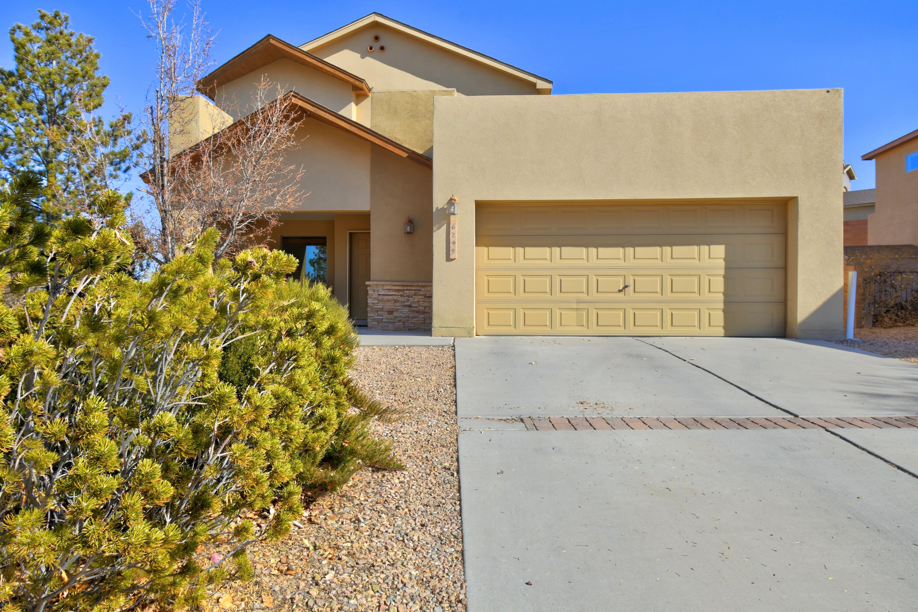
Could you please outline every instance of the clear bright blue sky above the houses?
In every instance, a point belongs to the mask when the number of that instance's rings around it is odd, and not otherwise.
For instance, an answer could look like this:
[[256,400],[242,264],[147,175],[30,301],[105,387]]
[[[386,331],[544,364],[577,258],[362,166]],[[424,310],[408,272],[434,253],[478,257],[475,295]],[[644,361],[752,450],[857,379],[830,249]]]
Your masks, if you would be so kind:
[[[184,8],[184,0],[178,0]],[[854,189],[860,156],[918,129],[918,2],[328,2],[203,0],[225,61],[271,33],[301,44],[378,11],[543,75],[555,94],[842,87]],[[152,79],[142,0],[6,0],[0,26],[55,8],[95,36],[107,95],[129,109]],[[133,11],[133,12],[132,12]],[[12,65],[6,34],[0,66]]]

